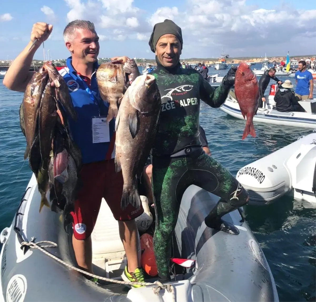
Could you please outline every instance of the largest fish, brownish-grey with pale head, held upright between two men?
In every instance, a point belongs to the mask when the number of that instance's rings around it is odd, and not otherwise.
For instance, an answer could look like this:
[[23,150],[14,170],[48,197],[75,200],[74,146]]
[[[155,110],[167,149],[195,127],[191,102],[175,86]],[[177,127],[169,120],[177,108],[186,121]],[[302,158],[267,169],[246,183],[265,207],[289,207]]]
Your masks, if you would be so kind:
[[126,90],[115,123],[115,162],[122,170],[124,186],[121,208],[139,208],[136,175],[140,174],[155,139],[161,97],[152,75],[138,76]]

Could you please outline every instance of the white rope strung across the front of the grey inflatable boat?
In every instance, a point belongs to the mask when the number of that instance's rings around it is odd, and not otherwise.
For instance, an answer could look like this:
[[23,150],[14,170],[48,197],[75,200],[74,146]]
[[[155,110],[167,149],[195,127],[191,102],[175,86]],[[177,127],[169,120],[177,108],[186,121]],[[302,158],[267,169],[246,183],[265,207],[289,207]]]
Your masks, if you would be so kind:
[[[154,283],[150,283],[150,282],[127,282],[127,281],[120,281],[120,280],[114,280],[114,279],[110,279],[110,278],[105,278],[105,277],[101,277],[98,275],[94,275],[91,273],[88,273],[85,270],[82,269],[78,269],[75,266],[68,264],[66,262],[64,262],[63,260],[59,259],[58,257],[54,256],[53,254],[51,254],[48,251],[45,251],[44,248],[53,248],[53,247],[57,247],[57,243],[49,241],[49,240],[42,240],[42,241],[38,241],[38,242],[34,242],[35,241],[35,237],[32,237],[32,239],[27,242],[27,241],[23,241],[21,243],[21,246],[29,246],[32,249],[38,249],[40,251],[42,251],[44,254],[46,254],[47,256],[55,259],[56,261],[58,261],[59,263],[64,264],[65,266],[67,266],[70,269],[74,269],[77,272],[80,272],[84,275],[88,275],[90,277],[93,278],[97,278],[103,281],[107,281],[107,282],[112,282],[112,283],[119,283],[119,284],[124,284],[124,285],[142,285],[142,286],[150,286],[150,285],[156,285],[156,287],[153,288],[153,291],[156,295],[159,295],[159,292],[161,289],[166,289],[168,293],[172,294],[172,301],[176,302],[175,300],[175,292],[174,292],[174,287],[171,284],[162,284],[159,281],[155,281]],[[49,245],[42,245],[44,243],[48,243]]]

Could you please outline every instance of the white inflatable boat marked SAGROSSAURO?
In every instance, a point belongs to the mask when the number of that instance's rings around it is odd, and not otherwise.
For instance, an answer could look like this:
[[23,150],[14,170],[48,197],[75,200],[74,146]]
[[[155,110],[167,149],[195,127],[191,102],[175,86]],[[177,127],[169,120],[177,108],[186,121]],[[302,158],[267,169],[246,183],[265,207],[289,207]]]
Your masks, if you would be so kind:
[[249,203],[270,203],[283,195],[316,203],[316,133],[300,137],[242,167],[236,179],[249,192]]

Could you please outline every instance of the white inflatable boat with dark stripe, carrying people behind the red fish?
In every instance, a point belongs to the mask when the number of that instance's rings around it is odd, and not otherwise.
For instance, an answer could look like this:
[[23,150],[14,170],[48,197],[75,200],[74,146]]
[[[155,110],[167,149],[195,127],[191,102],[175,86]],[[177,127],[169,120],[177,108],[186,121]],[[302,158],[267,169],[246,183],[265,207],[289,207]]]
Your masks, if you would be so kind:
[[[306,112],[279,112],[272,109],[275,105],[274,96],[277,85],[270,85],[270,94],[265,96],[264,108],[258,108],[257,114],[253,117],[253,122],[267,124],[294,126],[301,128],[316,128],[316,99],[299,101],[299,104]],[[235,118],[244,119],[239,104],[236,100],[234,89],[230,90],[224,104],[220,107],[222,111]]]

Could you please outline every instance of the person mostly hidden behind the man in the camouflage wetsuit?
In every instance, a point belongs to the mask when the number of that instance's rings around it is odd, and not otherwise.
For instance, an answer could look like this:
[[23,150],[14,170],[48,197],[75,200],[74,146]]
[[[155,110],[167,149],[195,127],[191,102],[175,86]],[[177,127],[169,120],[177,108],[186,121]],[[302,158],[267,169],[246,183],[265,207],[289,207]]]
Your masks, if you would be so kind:
[[[200,131],[199,139],[200,139],[200,142],[201,142],[201,145],[202,145],[202,148],[203,148],[205,154],[212,156],[211,151],[210,151],[210,147],[209,147],[209,143],[207,142],[205,131],[202,128],[202,126],[199,126],[199,131]],[[148,198],[149,205],[151,204],[153,206],[154,199],[153,199],[153,194],[152,194],[152,190],[151,190],[152,169],[153,169],[153,165],[151,164],[151,158],[149,157],[147,162],[146,162],[146,165],[143,168],[142,175],[137,180],[139,182],[139,184],[138,184],[139,194],[145,195]]]

